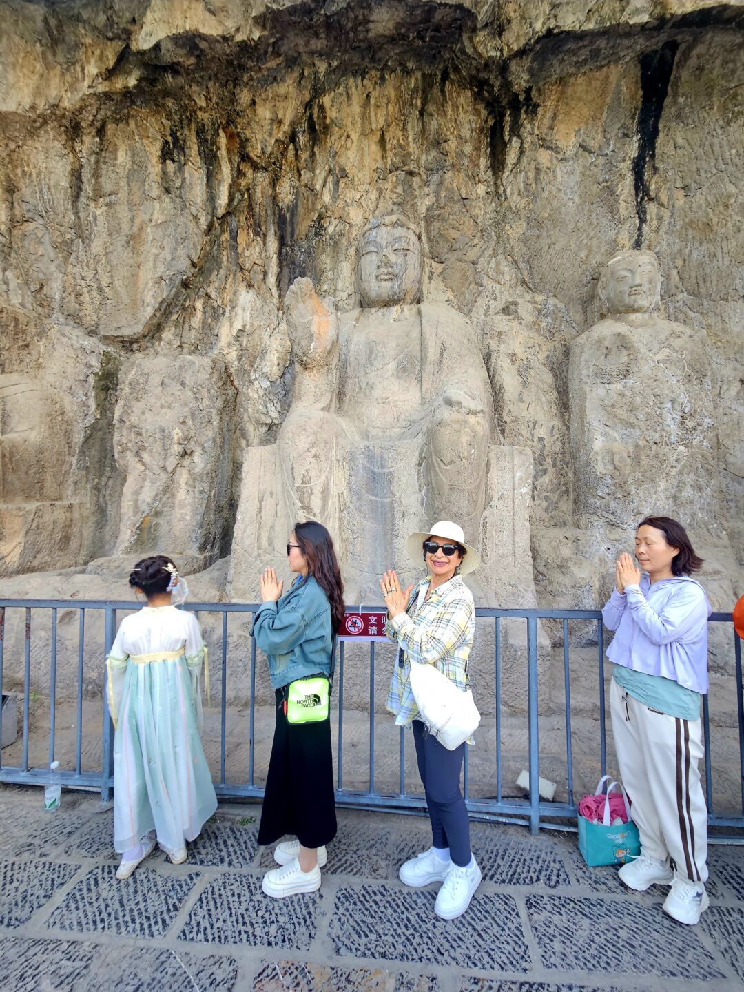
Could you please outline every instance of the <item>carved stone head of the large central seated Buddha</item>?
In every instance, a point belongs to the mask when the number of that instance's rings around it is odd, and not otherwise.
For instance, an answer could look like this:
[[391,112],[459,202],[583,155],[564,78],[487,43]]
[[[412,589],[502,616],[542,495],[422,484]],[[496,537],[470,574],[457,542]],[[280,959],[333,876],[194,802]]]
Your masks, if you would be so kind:
[[417,304],[423,260],[419,235],[406,217],[374,217],[359,238],[357,290],[362,307]]

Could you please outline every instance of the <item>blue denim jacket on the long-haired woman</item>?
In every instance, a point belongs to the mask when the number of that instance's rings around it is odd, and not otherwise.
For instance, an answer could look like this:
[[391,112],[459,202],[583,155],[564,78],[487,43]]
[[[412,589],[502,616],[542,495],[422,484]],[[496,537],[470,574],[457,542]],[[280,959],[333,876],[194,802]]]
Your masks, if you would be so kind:
[[278,602],[261,604],[251,633],[269,660],[274,688],[330,673],[330,628],[328,597],[312,575],[296,580]]

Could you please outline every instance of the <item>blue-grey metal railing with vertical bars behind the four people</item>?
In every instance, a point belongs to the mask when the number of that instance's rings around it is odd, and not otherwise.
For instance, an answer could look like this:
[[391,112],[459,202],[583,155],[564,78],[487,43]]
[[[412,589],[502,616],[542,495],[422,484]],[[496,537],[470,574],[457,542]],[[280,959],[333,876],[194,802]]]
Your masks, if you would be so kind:
[[[217,614],[221,617],[221,638],[220,638],[220,693],[219,693],[219,720],[220,720],[220,758],[219,777],[214,782],[214,788],[218,797],[222,798],[244,798],[261,799],[264,789],[255,781],[255,730],[256,730],[256,642],[250,638],[250,692],[249,711],[247,726],[248,744],[248,775],[244,781],[229,781],[226,776],[226,726],[227,726],[227,670],[228,670],[228,615],[246,614],[246,635],[249,627],[248,619],[256,610],[258,604],[255,603],[193,603],[186,606],[186,609],[193,612],[198,618],[200,613]],[[113,726],[105,704],[105,682],[103,698],[100,703],[96,702],[96,712],[100,718],[100,762],[94,769],[83,769],[82,767],[82,724],[83,724],[83,687],[85,675],[85,630],[86,614],[93,613],[100,618],[103,613],[103,643],[99,649],[94,650],[94,664],[97,668],[97,679],[105,680],[102,673],[105,672],[103,663],[106,655],[113,645],[116,627],[117,612],[131,612],[136,606],[131,602],[111,602],[101,600],[62,600],[62,599],[0,599],[0,689],[3,687],[3,667],[4,651],[6,644],[6,611],[25,611],[25,634],[23,637],[23,739],[21,747],[21,761],[17,765],[9,765],[2,759],[0,751],[0,782],[17,784],[38,784],[43,785],[50,781],[51,773],[47,765],[40,767],[30,767],[29,764],[29,743],[31,734],[30,706],[32,696],[32,644],[34,630],[42,611],[50,611],[49,614],[49,762],[55,760],[56,746],[56,706],[57,706],[57,674],[58,674],[58,618],[60,611],[77,611],[78,646],[76,659],[76,707],[75,707],[75,762],[74,767],[67,767],[60,770],[59,781],[62,786],[79,789],[94,789],[100,791],[101,799],[108,801],[113,790]],[[359,607],[349,612],[384,612],[372,607]],[[494,694],[493,710],[495,713],[496,743],[495,753],[492,756],[495,766],[496,794],[492,797],[475,798],[470,795],[468,756],[464,761],[464,796],[465,801],[474,818],[486,820],[503,820],[527,825],[533,832],[537,832],[541,827],[571,829],[571,821],[575,820],[576,802],[573,794],[573,741],[571,731],[571,685],[570,685],[570,652],[569,623],[581,621],[584,624],[590,623],[595,629],[596,642],[596,675],[598,677],[598,694],[596,700],[596,717],[598,723],[598,749],[599,764],[601,774],[604,775],[607,767],[607,740],[606,740],[606,720],[605,720],[605,680],[604,680],[604,628],[602,625],[601,613],[596,610],[550,610],[550,609],[525,609],[525,610],[502,610],[502,609],[476,609],[478,626],[476,629],[476,643],[479,636],[486,628],[486,625],[493,624],[493,666],[494,666]],[[531,788],[529,798],[507,796],[503,788],[503,742],[502,742],[502,722],[504,719],[504,705],[502,702],[502,676],[504,651],[502,647],[502,621],[522,620],[526,623],[527,645],[526,645],[526,665],[527,665],[527,730],[528,730],[528,750],[529,750],[529,775]],[[539,715],[539,623],[540,621],[559,622],[562,634],[562,660],[563,660],[563,692],[564,692],[564,729],[565,729],[565,787],[566,801],[542,802],[539,796],[537,783],[540,776],[540,715]],[[744,700],[742,698],[742,666],[741,666],[741,645],[740,640],[733,631],[731,615],[727,613],[713,613],[709,621],[711,624],[726,624],[731,630],[734,655],[734,681],[736,692],[736,712],[738,718],[738,749],[739,749],[739,772],[741,774],[741,807],[739,809],[718,812],[713,806],[713,772],[711,763],[710,748],[710,714],[708,697],[703,697],[703,727],[705,740],[705,795],[708,807],[708,822],[713,827],[735,827],[744,829]],[[592,638],[593,639],[593,638]],[[334,683],[334,706],[337,706],[336,730],[336,802],[339,806],[353,806],[357,808],[387,808],[397,811],[416,811],[426,807],[426,800],[422,794],[411,793],[406,788],[406,735],[405,729],[400,728],[399,739],[399,762],[400,774],[398,789],[381,790],[375,787],[375,650],[374,641],[366,642],[369,648],[369,693],[367,699],[368,710],[368,787],[366,789],[350,789],[343,784],[343,747],[344,747],[344,642],[339,642],[335,683]],[[214,651],[213,643],[210,645],[211,667],[214,672]],[[482,664],[482,658],[481,658]],[[38,666],[37,666],[38,668]],[[39,673],[35,676],[39,681]],[[212,680],[214,681],[213,675]],[[378,700],[379,701],[379,700]],[[478,696],[478,701],[482,704],[482,697]],[[0,708],[0,739],[2,739],[3,714]],[[392,720],[392,717],[391,717]],[[723,842],[744,842],[744,837],[731,836],[717,838]]]

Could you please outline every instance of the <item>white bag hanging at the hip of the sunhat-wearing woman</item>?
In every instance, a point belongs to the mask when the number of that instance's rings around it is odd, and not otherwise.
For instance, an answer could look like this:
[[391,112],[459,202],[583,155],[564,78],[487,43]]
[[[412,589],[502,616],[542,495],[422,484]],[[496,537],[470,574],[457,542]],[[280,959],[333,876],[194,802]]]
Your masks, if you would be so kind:
[[480,723],[470,689],[458,688],[434,665],[411,663],[411,690],[429,732],[447,751],[459,747]]

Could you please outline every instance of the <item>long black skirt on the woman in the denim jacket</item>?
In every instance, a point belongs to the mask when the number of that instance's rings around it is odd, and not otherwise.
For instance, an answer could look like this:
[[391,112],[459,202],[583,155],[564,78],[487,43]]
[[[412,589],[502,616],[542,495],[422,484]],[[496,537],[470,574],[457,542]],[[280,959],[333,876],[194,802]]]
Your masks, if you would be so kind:
[[336,835],[330,718],[288,723],[282,689],[277,689],[277,723],[258,828],[259,844],[285,834],[304,847],[321,847]]

